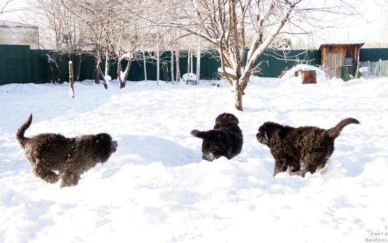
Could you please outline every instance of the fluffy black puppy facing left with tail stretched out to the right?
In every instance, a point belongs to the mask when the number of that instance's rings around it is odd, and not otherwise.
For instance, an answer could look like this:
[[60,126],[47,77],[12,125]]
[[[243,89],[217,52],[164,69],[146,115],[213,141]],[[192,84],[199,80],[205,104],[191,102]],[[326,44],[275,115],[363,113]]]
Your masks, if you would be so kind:
[[[305,176],[323,169],[334,151],[334,140],[348,124],[359,124],[354,118],[346,118],[335,127],[321,129],[312,126],[290,127],[267,121],[256,135],[259,143],[267,145],[275,158],[274,176],[289,167],[290,175]],[[301,168],[302,167],[302,168]]]

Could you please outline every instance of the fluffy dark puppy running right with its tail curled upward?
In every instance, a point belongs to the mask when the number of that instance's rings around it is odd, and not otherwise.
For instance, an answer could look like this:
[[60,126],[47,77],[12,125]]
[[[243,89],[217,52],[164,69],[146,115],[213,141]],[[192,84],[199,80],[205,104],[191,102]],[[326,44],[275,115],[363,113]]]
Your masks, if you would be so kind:
[[49,183],[61,179],[61,187],[78,184],[83,172],[97,163],[105,163],[117,148],[117,142],[106,133],[72,138],[53,133],[24,137],[31,122],[32,115],[17,130],[16,138],[33,173]]

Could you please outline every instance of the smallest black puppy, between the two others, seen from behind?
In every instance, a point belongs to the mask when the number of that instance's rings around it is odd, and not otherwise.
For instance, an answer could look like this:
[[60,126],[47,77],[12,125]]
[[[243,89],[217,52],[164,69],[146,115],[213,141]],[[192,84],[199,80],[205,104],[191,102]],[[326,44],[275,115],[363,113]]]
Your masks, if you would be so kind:
[[241,152],[242,131],[239,120],[232,114],[222,113],[215,119],[213,130],[191,131],[191,135],[203,139],[202,158],[208,161],[225,156],[231,159]]

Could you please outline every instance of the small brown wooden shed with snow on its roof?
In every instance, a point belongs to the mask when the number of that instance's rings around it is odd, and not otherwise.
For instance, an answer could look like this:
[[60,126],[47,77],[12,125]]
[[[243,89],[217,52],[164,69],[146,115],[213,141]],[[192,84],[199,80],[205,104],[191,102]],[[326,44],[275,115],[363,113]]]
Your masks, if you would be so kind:
[[322,68],[329,78],[349,80],[357,69],[359,50],[365,40],[325,41],[319,50],[322,51]]

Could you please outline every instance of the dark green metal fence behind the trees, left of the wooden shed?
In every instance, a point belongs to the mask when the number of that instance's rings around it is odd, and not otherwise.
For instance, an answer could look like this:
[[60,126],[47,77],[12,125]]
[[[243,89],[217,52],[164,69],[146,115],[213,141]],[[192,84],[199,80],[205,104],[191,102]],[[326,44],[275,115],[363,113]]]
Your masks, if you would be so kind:
[[[216,51],[201,56],[201,78],[214,79],[217,76],[217,69],[220,61],[215,56]],[[187,52],[181,51],[179,59],[180,73],[187,73]],[[29,46],[0,45],[0,85],[9,83],[49,83],[53,80],[53,72],[50,62],[55,57],[58,65],[57,76],[61,81],[68,81],[69,57],[59,56],[50,50],[31,50]],[[171,80],[170,52],[166,51],[161,55],[160,79]],[[293,61],[291,61],[293,60]],[[295,61],[298,60],[298,61]],[[193,58],[193,68],[196,72],[196,58]],[[260,63],[260,72],[257,76],[278,77],[286,69],[298,63],[311,65],[321,64],[321,52],[318,50],[291,50],[271,51],[266,50],[259,57],[256,64]],[[123,67],[126,65],[123,62]],[[175,64],[174,64],[175,65]],[[104,72],[105,63],[101,62],[100,67]],[[156,80],[156,60],[146,62],[147,79]],[[95,60],[93,56],[83,56],[81,62],[80,80],[94,79]],[[176,70],[175,70],[176,72]],[[117,65],[112,62],[109,75],[112,79],[117,78]],[[175,76],[175,75],[174,75]],[[143,61],[132,61],[128,80],[144,80]]]

